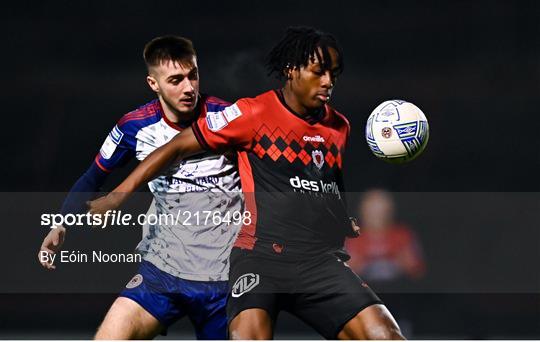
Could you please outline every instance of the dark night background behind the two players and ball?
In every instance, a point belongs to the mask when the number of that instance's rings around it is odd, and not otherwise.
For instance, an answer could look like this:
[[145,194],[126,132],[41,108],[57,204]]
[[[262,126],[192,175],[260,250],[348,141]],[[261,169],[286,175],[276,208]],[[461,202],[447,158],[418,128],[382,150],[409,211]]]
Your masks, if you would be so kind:
[[[34,293],[32,285],[76,273],[39,268],[34,254],[46,232],[10,198],[57,208],[62,196],[35,192],[69,190],[115,122],[154,98],[144,44],[163,34],[191,38],[201,89],[234,101],[279,86],[266,76],[265,53],[287,26],[302,24],[330,31],[345,52],[332,102],[353,127],[348,190],[401,194],[399,216],[423,242],[424,282],[382,294],[389,306],[410,303],[409,337],[540,338],[540,3],[19,1],[2,13],[0,190],[11,259],[0,337],[89,338],[114,299],[116,290]],[[371,110],[393,98],[418,105],[430,123],[426,151],[406,165],[376,160],[364,141]],[[78,234],[71,248],[85,245]],[[192,337],[181,324],[171,336]],[[317,337],[291,318],[278,330]]]

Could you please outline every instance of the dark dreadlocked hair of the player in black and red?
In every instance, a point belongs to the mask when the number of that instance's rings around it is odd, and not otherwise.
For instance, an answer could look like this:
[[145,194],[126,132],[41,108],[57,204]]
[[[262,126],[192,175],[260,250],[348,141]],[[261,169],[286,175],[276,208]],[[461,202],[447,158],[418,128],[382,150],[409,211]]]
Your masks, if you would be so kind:
[[267,56],[268,75],[275,73],[281,79],[285,76],[284,71],[307,66],[309,60],[313,61],[315,57],[322,63],[325,70],[330,70],[332,60],[328,52],[329,48],[335,49],[338,54],[338,73],[341,73],[344,68],[343,53],[334,36],[313,27],[289,27],[285,36]]

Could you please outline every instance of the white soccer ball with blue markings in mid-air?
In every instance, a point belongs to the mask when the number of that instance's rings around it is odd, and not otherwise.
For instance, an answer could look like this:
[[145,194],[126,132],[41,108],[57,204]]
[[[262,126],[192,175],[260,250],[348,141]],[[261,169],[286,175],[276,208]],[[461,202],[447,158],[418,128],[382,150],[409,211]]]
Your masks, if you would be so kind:
[[381,103],[366,124],[366,140],[371,152],[390,163],[418,157],[429,139],[426,116],[414,104],[402,100]]

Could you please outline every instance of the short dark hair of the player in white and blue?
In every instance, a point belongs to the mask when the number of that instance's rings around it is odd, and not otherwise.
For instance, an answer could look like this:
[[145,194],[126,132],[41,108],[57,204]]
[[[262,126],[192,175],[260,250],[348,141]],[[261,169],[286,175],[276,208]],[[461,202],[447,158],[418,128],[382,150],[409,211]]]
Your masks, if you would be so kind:
[[183,64],[196,56],[191,40],[180,36],[156,37],[146,43],[143,58],[148,68],[170,60]]

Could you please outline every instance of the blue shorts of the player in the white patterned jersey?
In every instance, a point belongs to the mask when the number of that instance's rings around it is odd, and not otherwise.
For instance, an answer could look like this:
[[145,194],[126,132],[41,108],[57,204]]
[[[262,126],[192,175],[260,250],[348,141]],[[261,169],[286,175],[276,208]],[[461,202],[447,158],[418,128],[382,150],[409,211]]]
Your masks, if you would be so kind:
[[198,339],[227,339],[227,282],[186,280],[143,261],[120,293],[137,302],[165,328],[184,316]]

